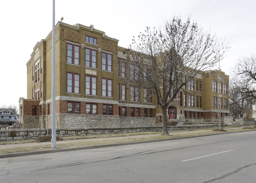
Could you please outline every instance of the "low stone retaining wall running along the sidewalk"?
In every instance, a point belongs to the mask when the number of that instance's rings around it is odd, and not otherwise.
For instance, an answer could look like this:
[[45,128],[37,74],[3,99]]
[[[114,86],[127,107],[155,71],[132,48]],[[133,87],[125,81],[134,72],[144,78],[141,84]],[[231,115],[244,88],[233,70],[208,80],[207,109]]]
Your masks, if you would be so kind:
[[[168,131],[176,130],[196,130],[210,128],[206,126],[167,126]],[[161,126],[142,126],[142,127],[119,127],[119,128],[59,128],[56,129],[56,137],[66,137],[74,135],[101,135],[101,134],[127,134],[133,132],[162,132]],[[46,135],[47,130],[37,128],[32,129],[6,129],[0,130],[0,141],[13,141],[22,139],[36,139],[39,135]],[[48,134],[52,131],[49,129]]]

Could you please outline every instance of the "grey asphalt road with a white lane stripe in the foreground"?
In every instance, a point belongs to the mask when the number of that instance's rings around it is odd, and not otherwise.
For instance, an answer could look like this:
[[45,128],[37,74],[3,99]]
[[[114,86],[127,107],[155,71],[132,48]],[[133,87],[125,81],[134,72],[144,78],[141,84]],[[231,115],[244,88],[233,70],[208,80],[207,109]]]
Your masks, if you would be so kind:
[[256,131],[0,159],[0,182],[256,182]]

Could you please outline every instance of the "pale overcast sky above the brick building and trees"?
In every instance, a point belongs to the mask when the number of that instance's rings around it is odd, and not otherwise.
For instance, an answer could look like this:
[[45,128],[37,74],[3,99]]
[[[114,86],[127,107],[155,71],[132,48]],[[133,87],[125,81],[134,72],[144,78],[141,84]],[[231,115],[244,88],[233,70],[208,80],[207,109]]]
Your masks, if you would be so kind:
[[[147,26],[158,27],[173,15],[191,19],[231,49],[221,61],[221,70],[231,75],[239,57],[255,53],[255,0],[56,0],[56,23],[94,25],[127,48],[132,36]],[[0,106],[27,98],[26,63],[33,47],[52,30],[52,0],[1,1]]]

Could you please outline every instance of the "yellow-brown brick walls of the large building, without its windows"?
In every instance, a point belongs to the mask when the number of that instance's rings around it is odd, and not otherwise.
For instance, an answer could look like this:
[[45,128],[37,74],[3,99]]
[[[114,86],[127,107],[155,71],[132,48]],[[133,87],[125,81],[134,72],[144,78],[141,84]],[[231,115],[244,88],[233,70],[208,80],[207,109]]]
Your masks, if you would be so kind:
[[[86,114],[86,104],[97,104],[97,114],[102,115],[102,104],[113,105],[112,115],[122,115],[122,108],[126,108],[126,116],[131,115],[131,108],[136,112],[138,109],[139,117],[144,117],[147,112],[147,117],[156,117],[161,115],[161,109],[157,106],[156,97],[152,97],[152,102],[143,102],[143,89],[140,89],[139,102],[130,101],[130,86],[126,84],[125,79],[118,76],[118,61],[126,63],[125,57],[122,57],[124,48],[118,46],[118,40],[106,36],[103,31],[95,29],[93,26],[83,26],[76,24],[71,26],[63,22],[58,22],[56,25],[56,113],[67,113],[68,102],[80,102],[80,114]],[[86,41],[86,36],[96,39],[96,44]],[[78,46],[79,48],[79,64],[68,63],[67,61],[67,45]],[[72,47],[73,48],[73,47]],[[77,48],[77,47],[76,47]],[[86,49],[96,50],[96,68],[85,66]],[[74,49],[72,50],[74,51]],[[102,53],[112,55],[112,70],[102,70]],[[73,59],[73,58],[72,58]],[[35,64],[39,62],[40,79],[35,82]],[[33,67],[33,72],[32,72]],[[119,68],[120,69],[120,68]],[[38,70],[38,68],[37,68]],[[42,71],[41,71],[42,70]],[[129,71],[129,66],[126,64],[126,74]],[[79,75],[79,92],[67,92],[67,73],[74,73]],[[209,71],[210,73],[210,71]],[[228,85],[228,76],[221,72],[223,81]],[[85,76],[96,77],[96,95],[85,94]],[[34,79],[32,79],[34,77]],[[38,76],[37,76],[38,77]],[[218,77],[218,74],[217,74]],[[109,79],[112,81],[112,96],[102,96],[102,79]],[[182,99],[182,106],[180,105],[180,96],[172,103],[176,107],[176,119],[184,115],[189,117],[189,112],[200,113],[200,117],[210,117],[208,113],[214,113],[215,109],[212,105],[213,96],[219,96],[219,93],[212,92],[212,81],[216,80],[216,74],[211,74],[210,77],[202,75],[202,92],[193,93],[195,106],[184,106],[184,99]],[[51,103],[51,87],[52,87],[52,33],[46,39],[38,42],[33,48],[31,59],[27,63],[27,93],[28,99],[39,101],[41,113],[47,115],[51,113],[48,110],[48,104]],[[72,81],[73,82],[73,81]],[[196,82],[196,79],[195,79]],[[42,87],[41,87],[42,83]],[[122,96],[122,84],[125,85],[126,99],[118,99],[118,84],[119,97]],[[32,93],[33,88],[33,93]],[[187,88],[187,87],[186,87]],[[195,88],[195,87],[194,87]],[[187,89],[186,89],[187,90]],[[218,90],[218,89],[217,89]],[[228,88],[227,88],[228,90]],[[39,98],[35,98],[35,91],[39,91]],[[228,91],[227,91],[228,92]],[[42,94],[41,94],[42,93]],[[42,95],[42,96],[41,96]],[[191,94],[192,95],[192,94]],[[197,96],[202,97],[202,107],[198,108],[196,105]],[[182,94],[182,98],[184,93]],[[222,98],[228,100],[228,94],[223,95]],[[188,101],[188,95],[186,95]],[[144,110],[146,109],[146,110]],[[223,115],[229,114],[228,109],[223,109]],[[202,115],[201,115],[202,113]],[[135,114],[136,116],[136,114]]]

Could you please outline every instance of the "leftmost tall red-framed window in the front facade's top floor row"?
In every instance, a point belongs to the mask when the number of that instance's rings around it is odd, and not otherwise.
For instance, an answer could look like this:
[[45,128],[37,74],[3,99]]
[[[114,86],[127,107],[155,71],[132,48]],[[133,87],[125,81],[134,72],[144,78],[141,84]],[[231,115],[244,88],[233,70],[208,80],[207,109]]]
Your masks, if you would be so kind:
[[80,65],[80,46],[67,43],[67,63]]

